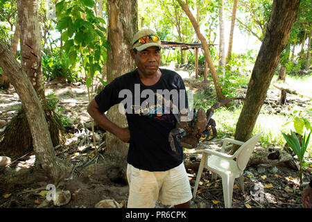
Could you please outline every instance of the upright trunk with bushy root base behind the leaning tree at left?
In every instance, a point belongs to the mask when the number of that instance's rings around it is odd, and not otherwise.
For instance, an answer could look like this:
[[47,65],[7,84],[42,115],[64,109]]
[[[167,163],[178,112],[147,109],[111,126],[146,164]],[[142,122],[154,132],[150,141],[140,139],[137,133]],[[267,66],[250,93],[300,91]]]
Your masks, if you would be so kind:
[[[54,111],[46,105],[44,80],[42,76],[42,46],[37,1],[17,1],[19,13],[19,34],[21,40],[21,67],[37,93],[48,121],[53,146],[66,141],[66,131]],[[24,107],[23,107],[24,108]],[[3,151],[10,155],[21,155],[33,151],[33,138],[26,120],[26,110],[22,110],[8,124],[4,132]]]

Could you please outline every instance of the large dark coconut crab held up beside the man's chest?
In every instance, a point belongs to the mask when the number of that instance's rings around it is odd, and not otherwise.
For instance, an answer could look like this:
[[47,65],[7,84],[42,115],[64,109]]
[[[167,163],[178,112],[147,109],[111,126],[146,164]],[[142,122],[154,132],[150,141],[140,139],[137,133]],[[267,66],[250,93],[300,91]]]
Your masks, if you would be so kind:
[[[171,130],[168,136],[168,142],[171,146],[171,149],[175,153],[178,153],[175,148],[175,144],[180,143],[184,147],[195,148],[200,140],[200,137],[205,137],[204,141],[210,141],[211,139],[214,139],[217,136],[216,121],[211,118],[214,114],[214,110],[237,99],[243,98],[224,99],[223,101],[212,105],[212,107],[209,108],[207,112],[205,112],[205,110],[202,108],[198,109],[197,112],[194,109],[193,119],[188,122],[180,121],[180,114],[174,114],[178,127]],[[213,136],[209,139],[211,130]]]

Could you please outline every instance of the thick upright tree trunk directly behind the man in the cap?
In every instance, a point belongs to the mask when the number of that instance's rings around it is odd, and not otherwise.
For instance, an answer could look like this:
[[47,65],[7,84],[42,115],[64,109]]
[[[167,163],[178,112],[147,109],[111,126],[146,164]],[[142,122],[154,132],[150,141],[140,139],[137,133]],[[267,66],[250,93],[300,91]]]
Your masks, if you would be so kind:
[[[137,33],[137,1],[108,0],[108,41],[110,51],[107,52],[107,83],[135,69],[135,62],[130,56],[132,49],[132,37]],[[117,126],[126,127],[128,123],[125,114],[121,114],[118,105],[114,105],[107,112],[110,121]],[[128,155],[128,144],[106,133],[107,155],[117,160],[123,167]]]

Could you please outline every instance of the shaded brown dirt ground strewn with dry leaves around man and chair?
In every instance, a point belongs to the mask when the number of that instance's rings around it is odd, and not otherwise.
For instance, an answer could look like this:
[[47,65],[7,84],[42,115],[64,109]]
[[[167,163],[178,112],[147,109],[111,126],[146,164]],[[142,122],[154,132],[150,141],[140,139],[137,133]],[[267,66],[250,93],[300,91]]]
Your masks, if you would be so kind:
[[[112,170],[107,169],[105,157],[105,132],[96,130],[97,144],[101,148],[94,156],[92,136],[89,133],[89,115],[86,112],[88,99],[85,85],[69,85],[58,82],[46,83],[46,94],[53,92],[58,99],[60,112],[71,127],[68,127],[70,138],[66,144],[56,146],[55,153],[60,160],[71,166],[71,172],[57,185],[58,190],[70,191],[69,203],[62,206],[53,205],[46,200],[49,182],[36,180],[31,184],[21,181],[14,186],[8,185],[8,175],[15,171],[30,171],[26,176],[32,176],[31,168],[34,165],[33,153],[21,157],[10,157],[11,164],[0,169],[0,207],[94,207],[100,200],[113,199],[120,207],[125,207],[128,199],[128,185],[125,181],[112,181],[109,178]],[[9,123],[21,107],[19,97],[11,87],[8,91],[0,90],[0,119]],[[2,127],[2,126],[1,126]],[[0,137],[5,128],[0,127]],[[220,144],[218,139],[215,144]],[[260,148],[260,147],[258,147]],[[5,155],[0,153],[0,155]],[[188,155],[186,158],[190,159]],[[200,162],[200,155],[191,157],[196,165]],[[191,187],[195,184],[197,170],[187,169]],[[304,171],[304,181],[312,178],[312,168]],[[234,186],[232,207],[234,208],[301,208],[302,187],[300,187],[297,171],[285,164],[259,164],[249,166],[245,170],[245,189],[242,194],[237,185]],[[157,207],[164,206],[157,203]],[[202,174],[198,194],[191,201],[194,208],[224,207],[222,182],[220,179],[213,182],[211,173]]]

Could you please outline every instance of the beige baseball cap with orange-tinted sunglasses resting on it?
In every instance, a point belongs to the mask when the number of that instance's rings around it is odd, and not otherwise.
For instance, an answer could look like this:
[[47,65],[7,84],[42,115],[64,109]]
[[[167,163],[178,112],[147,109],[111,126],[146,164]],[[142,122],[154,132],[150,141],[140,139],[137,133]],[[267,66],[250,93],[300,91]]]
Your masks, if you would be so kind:
[[162,48],[162,42],[157,33],[151,29],[141,29],[132,38],[132,49],[142,51],[151,46]]

